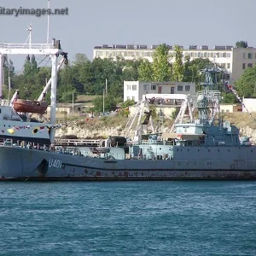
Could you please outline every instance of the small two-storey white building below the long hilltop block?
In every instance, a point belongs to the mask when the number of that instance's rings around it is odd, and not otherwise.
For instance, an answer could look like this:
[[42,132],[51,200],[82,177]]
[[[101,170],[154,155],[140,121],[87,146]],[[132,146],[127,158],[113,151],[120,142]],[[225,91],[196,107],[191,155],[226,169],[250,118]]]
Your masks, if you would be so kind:
[[124,102],[127,100],[142,101],[145,94],[189,94],[194,96],[195,83],[124,81]]

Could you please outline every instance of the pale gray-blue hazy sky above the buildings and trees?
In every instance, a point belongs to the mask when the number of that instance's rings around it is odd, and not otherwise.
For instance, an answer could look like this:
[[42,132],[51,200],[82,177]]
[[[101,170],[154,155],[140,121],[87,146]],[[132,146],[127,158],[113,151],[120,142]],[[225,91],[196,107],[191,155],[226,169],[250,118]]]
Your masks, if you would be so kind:
[[[0,7],[43,9],[47,4],[48,0],[1,0]],[[102,44],[212,48],[245,40],[256,46],[255,0],[50,0],[49,4],[51,9],[68,9],[68,15],[49,16],[49,38],[61,40],[71,61],[76,53],[92,60],[94,46]],[[25,43],[30,23],[32,43],[46,43],[47,15],[0,15],[0,43]],[[10,58],[15,70],[22,70],[25,56]]]

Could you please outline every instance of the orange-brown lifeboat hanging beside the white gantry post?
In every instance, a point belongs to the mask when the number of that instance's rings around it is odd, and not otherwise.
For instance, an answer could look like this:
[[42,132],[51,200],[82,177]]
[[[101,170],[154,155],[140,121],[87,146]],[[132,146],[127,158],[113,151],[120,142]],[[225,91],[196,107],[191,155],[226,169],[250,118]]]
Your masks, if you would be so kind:
[[44,114],[48,107],[47,102],[16,99],[14,109],[16,112]]

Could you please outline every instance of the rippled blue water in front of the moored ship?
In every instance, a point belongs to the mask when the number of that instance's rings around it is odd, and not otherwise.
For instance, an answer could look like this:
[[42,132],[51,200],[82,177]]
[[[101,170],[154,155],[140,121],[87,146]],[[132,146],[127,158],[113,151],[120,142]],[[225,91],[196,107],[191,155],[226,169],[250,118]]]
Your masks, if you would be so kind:
[[256,255],[256,182],[0,183],[0,255]]

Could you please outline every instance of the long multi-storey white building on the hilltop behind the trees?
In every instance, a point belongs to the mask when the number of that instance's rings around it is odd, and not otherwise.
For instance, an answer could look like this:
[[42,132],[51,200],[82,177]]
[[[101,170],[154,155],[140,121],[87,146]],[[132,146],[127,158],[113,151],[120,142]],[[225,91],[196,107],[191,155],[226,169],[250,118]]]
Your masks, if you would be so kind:
[[[153,61],[154,49],[157,45],[142,44],[103,44],[102,46],[96,46],[93,49],[93,57],[100,58],[116,58],[122,56],[125,60],[133,60],[138,58],[145,58],[148,61]],[[180,46],[183,48],[183,46]],[[170,46],[170,55],[174,55],[174,50]],[[196,58],[208,58],[212,62],[216,62],[218,65],[224,68],[227,73],[226,79],[230,79],[230,83],[234,83],[238,79],[247,67],[254,67],[256,65],[256,48],[234,48],[233,46],[214,46],[210,49],[207,45],[197,47],[196,45],[190,45],[188,49],[183,49],[183,57],[189,55],[190,60],[193,61]],[[171,62],[175,61],[172,57]]]

